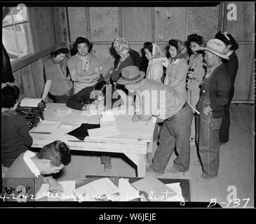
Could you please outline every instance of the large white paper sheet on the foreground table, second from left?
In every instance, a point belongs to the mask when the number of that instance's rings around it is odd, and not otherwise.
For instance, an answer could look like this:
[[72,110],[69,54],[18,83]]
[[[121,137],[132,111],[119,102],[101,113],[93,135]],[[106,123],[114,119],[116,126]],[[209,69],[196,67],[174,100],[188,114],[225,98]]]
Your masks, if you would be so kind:
[[80,188],[76,188],[74,193],[77,200],[83,201],[97,201],[97,200],[120,200],[119,188],[117,188],[108,178],[98,179],[96,181],[87,183]]

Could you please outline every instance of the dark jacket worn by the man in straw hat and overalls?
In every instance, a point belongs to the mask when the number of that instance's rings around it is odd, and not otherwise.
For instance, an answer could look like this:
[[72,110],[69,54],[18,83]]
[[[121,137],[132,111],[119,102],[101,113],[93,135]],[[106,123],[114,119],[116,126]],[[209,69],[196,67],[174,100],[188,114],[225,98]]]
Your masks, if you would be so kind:
[[224,106],[229,101],[231,81],[224,64],[217,66],[210,76],[209,97],[214,118],[224,116]]

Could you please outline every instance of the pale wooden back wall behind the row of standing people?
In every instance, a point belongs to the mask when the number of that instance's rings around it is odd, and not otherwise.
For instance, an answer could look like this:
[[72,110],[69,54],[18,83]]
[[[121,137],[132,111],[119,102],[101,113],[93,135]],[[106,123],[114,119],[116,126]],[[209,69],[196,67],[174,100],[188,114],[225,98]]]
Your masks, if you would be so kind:
[[[224,3],[222,3],[224,5]],[[234,100],[250,102],[252,94],[253,3],[236,3],[237,22],[226,22],[227,31],[242,41],[237,52],[241,66],[238,70]],[[227,10],[227,3],[225,5]],[[87,12],[87,15],[86,15]],[[170,38],[187,39],[189,34],[201,34],[206,41],[218,29],[224,28],[222,8],[215,7],[68,7],[70,42],[85,36],[93,42],[93,53],[99,59],[103,74],[113,66],[109,48],[114,38],[123,36],[130,46],[140,52],[145,41],[153,41],[166,50]],[[220,21],[220,18],[222,21]],[[246,26],[245,26],[246,25]],[[247,27],[248,25],[248,27]],[[241,27],[241,29],[240,29]],[[246,37],[246,38],[244,38]],[[247,41],[246,44],[243,44]],[[250,44],[249,44],[250,43]],[[254,44],[254,42],[253,42]],[[245,60],[244,58],[249,58]]]

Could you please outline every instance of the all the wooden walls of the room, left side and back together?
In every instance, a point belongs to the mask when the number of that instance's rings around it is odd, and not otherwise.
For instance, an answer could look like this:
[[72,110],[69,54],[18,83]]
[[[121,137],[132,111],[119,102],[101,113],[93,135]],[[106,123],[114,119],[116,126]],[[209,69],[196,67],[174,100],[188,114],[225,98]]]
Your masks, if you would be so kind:
[[[222,3],[226,14],[228,3]],[[252,2],[235,3],[237,21],[228,21],[222,17],[220,6],[31,7],[29,14],[34,52],[41,52],[60,42],[72,45],[78,36],[84,36],[93,42],[93,54],[99,59],[105,74],[114,64],[110,48],[114,38],[119,36],[127,38],[131,48],[141,54],[145,41],[156,42],[166,50],[170,38],[184,41],[189,34],[196,33],[208,41],[218,29],[227,30],[240,45],[237,51],[240,64],[234,102],[253,102],[254,5]],[[43,64],[47,58],[43,57],[14,72],[21,97],[41,97],[44,85]]]

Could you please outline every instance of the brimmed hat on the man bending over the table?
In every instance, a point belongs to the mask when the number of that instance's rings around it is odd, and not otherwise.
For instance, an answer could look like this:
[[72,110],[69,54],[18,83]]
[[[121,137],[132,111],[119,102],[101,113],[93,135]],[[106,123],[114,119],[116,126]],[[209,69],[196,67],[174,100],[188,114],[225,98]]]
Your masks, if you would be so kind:
[[121,70],[121,77],[117,80],[120,85],[128,85],[136,83],[137,81],[144,78],[144,71],[140,71],[135,65],[126,66]]

